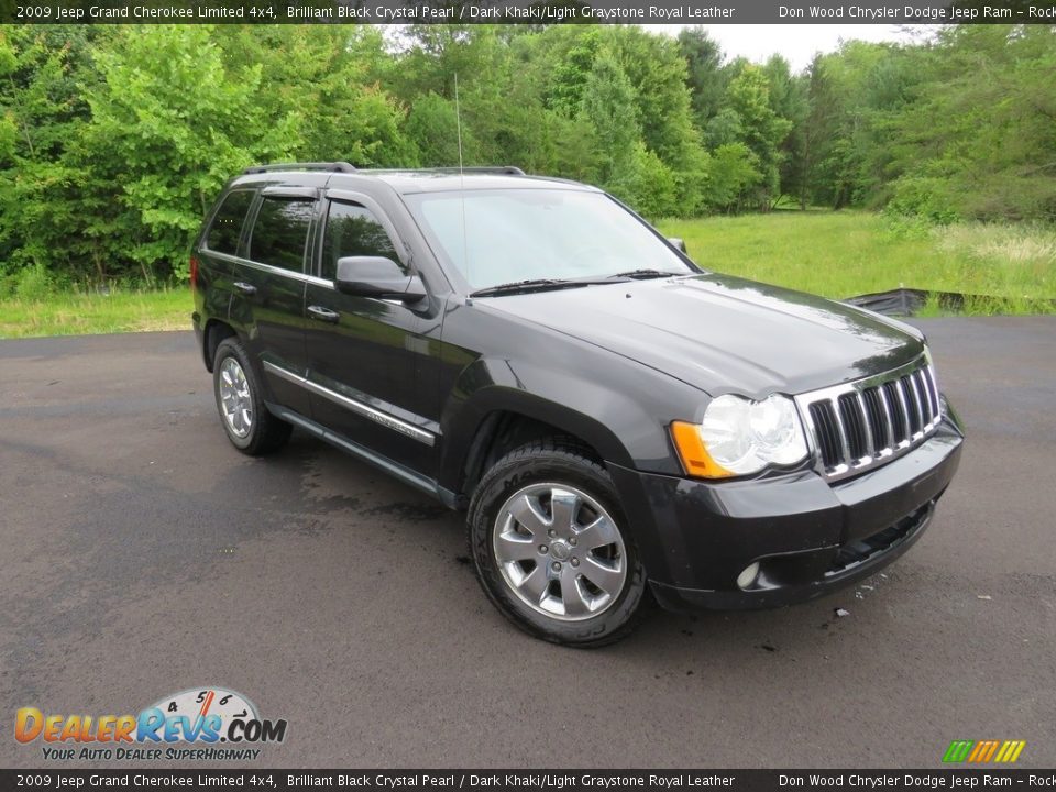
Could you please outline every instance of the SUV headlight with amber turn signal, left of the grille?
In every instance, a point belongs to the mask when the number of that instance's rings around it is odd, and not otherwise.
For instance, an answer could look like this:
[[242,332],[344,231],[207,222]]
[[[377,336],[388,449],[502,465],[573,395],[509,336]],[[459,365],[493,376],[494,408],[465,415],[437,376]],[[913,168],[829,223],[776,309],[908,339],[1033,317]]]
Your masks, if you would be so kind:
[[671,425],[674,446],[690,475],[726,479],[790,465],[807,454],[795,403],[774,394],[762,402],[719,396],[697,424]]

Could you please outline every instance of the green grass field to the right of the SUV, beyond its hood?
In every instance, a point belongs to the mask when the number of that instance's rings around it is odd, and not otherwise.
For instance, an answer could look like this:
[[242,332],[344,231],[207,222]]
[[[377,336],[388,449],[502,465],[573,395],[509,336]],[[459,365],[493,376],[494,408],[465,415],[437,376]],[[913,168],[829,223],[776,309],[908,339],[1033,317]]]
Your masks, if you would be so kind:
[[[971,314],[1056,310],[1056,230],[1028,226],[897,227],[866,212],[666,220],[702,266],[825,297],[919,288],[983,295]],[[996,299],[994,299],[996,298]]]

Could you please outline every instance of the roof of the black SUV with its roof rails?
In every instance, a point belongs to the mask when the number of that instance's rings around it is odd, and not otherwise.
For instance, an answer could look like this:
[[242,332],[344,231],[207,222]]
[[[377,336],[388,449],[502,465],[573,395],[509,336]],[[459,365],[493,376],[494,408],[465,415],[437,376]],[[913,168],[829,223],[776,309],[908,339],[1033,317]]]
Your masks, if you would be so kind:
[[[596,187],[580,182],[549,176],[528,176],[521,173],[519,168],[512,166],[494,168],[466,167],[463,173],[460,173],[457,167],[360,169],[353,168],[345,163],[311,163],[310,166],[299,166],[297,163],[290,163],[288,168],[283,167],[283,165],[254,166],[248,168],[245,173],[272,177],[279,176],[290,178],[290,180],[297,180],[298,176],[304,177],[308,173],[319,174],[320,172],[324,172],[326,176],[329,177],[329,184],[332,187],[340,186],[345,179],[353,182],[361,176],[370,176],[385,182],[400,195],[411,193],[442,193],[461,189],[540,189],[547,187],[601,191]],[[309,180],[315,182],[315,179]]]

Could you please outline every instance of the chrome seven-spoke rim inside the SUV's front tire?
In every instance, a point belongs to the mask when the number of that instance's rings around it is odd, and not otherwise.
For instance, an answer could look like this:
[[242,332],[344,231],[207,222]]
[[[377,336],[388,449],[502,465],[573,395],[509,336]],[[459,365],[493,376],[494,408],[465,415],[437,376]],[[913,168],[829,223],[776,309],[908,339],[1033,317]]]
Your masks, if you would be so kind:
[[616,522],[597,501],[566,484],[532,484],[515,493],[498,510],[492,547],[510,591],[562,622],[597,616],[627,582]]

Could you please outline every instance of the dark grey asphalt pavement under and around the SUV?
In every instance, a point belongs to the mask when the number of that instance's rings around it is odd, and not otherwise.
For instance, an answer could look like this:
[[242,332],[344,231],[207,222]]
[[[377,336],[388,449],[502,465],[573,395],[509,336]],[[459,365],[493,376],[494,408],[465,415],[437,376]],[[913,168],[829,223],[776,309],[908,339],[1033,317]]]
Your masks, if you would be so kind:
[[1053,767],[1056,318],[916,323],[969,432],[921,541],[590,652],[496,613],[439,504],[300,433],[235,452],[190,333],[0,342],[0,767],[44,763],[18,707],[212,685],[288,722],[271,767]]

